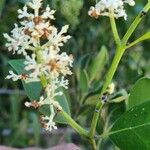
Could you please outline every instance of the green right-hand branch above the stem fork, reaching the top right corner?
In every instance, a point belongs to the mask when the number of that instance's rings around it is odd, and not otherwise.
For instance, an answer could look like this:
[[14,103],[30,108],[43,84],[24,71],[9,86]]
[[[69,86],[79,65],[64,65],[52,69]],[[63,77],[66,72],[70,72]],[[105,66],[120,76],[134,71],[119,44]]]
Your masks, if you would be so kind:
[[138,16],[135,18],[135,20],[133,21],[133,23],[131,24],[131,26],[127,30],[126,34],[124,35],[124,37],[122,39],[122,42],[124,44],[127,43],[128,39],[131,37],[131,35],[135,31],[135,29],[137,28],[137,26],[139,25],[139,23],[143,19],[144,13],[147,13],[149,9],[150,9],[150,1],[146,4],[146,6],[143,8],[143,10],[138,14]]

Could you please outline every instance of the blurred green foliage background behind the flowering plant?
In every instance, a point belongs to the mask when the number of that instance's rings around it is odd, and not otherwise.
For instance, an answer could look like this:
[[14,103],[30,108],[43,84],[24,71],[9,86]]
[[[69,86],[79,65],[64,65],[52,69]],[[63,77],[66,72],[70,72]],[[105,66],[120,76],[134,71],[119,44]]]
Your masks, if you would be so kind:
[[[82,139],[81,142],[79,136],[66,125],[58,125],[59,129],[53,133],[42,130],[38,123],[38,112],[33,109],[26,109],[24,106],[24,102],[28,98],[21,82],[5,80],[10,70],[8,60],[22,56],[12,55],[7,51],[3,33],[9,33],[13,29],[14,23],[18,22],[17,10],[22,8],[26,1],[0,0],[0,144],[12,147],[35,145],[49,147],[63,142],[73,142],[82,145],[83,149],[90,149],[89,146],[85,146],[86,141]],[[121,36],[146,2],[146,0],[136,0],[135,7],[126,7],[128,20],[117,20]],[[93,101],[91,102],[90,96],[93,95],[91,93],[99,92],[104,74],[111,64],[115,52],[109,19],[106,17],[93,19],[88,16],[88,9],[95,4],[95,0],[44,0],[44,5],[46,4],[57,10],[55,14],[57,19],[54,24],[59,29],[65,24],[70,25],[69,34],[72,39],[65,44],[63,50],[72,53],[75,62],[74,74],[70,77],[70,90],[66,92],[66,95],[73,118],[88,128],[92,116],[91,111],[95,105]],[[149,15],[146,15],[129,42],[150,30]],[[92,84],[86,85],[85,72],[82,70],[88,70],[103,45],[107,48],[105,67],[101,69],[98,78],[94,79]],[[149,56],[149,41],[144,41],[125,53],[114,78],[118,92],[128,92],[137,79],[150,76]],[[89,102],[83,106],[81,101],[86,99]],[[88,112],[89,115],[87,115]],[[107,150],[110,144],[107,143],[106,145],[105,149]]]

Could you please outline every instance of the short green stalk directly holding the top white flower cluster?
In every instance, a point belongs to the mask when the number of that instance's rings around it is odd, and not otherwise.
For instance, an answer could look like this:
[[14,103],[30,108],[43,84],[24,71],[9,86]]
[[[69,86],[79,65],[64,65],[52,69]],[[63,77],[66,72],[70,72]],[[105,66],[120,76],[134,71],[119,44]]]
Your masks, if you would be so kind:
[[120,37],[118,34],[115,19],[113,16],[110,16],[109,18],[110,18],[110,24],[111,24],[111,28],[112,28],[112,32],[113,32],[113,36],[114,36],[114,40],[116,42],[116,45],[120,45]]

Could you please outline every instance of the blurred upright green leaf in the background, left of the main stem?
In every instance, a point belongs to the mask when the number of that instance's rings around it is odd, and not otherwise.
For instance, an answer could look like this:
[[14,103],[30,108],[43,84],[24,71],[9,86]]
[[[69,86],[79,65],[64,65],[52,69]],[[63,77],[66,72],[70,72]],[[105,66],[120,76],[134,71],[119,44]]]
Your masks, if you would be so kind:
[[93,58],[91,65],[88,69],[90,82],[92,82],[94,79],[100,78],[104,66],[108,61],[108,57],[109,56],[106,47],[102,46],[100,52],[95,58]]

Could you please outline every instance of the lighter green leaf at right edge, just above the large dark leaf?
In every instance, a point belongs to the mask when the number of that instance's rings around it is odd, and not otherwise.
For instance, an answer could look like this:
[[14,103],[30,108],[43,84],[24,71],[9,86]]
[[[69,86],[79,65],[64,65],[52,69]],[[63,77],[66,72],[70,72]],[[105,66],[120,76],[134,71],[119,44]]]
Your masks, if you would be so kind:
[[134,85],[128,100],[128,107],[150,100],[150,79],[142,78]]

